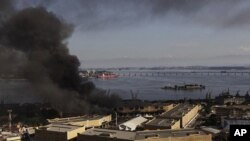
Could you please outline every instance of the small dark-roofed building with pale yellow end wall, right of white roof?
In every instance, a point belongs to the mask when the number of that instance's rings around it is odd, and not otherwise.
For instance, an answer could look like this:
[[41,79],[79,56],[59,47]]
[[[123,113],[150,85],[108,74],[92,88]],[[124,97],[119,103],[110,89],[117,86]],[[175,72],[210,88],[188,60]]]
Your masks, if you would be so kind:
[[181,123],[179,119],[166,119],[154,118],[144,125],[145,129],[158,130],[158,129],[180,129]]

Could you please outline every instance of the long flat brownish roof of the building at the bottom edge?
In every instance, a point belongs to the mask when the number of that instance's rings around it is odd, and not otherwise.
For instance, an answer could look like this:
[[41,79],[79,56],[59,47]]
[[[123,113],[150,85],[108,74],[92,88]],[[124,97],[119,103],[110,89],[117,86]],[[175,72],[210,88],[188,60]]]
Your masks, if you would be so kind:
[[109,129],[89,129],[82,133],[82,135],[87,136],[103,136],[106,138],[118,138],[126,140],[141,140],[150,137],[183,137],[192,134],[207,135],[202,130],[198,129],[181,129],[181,130],[154,130],[154,131],[139,131],[139,132],[128,132],[119,130],[109,130]]

